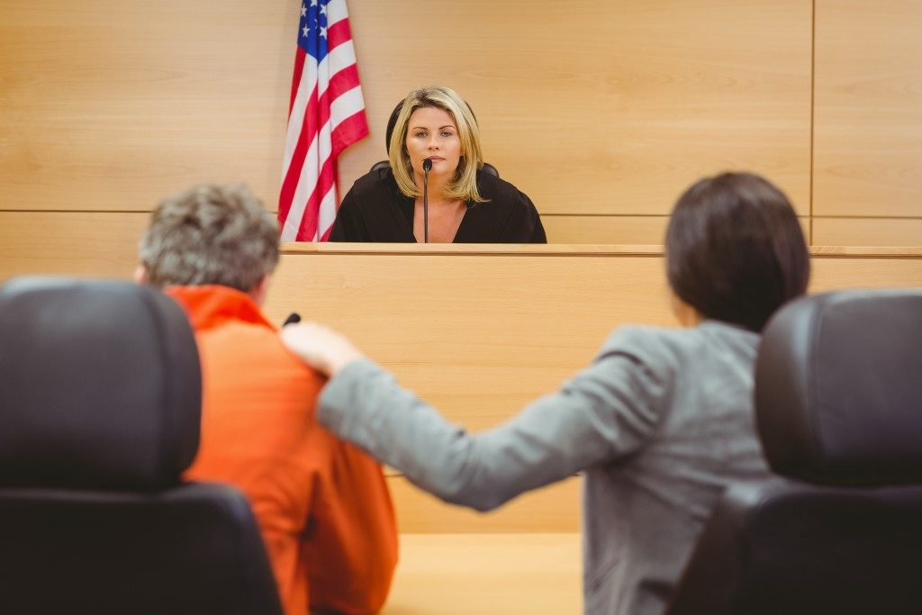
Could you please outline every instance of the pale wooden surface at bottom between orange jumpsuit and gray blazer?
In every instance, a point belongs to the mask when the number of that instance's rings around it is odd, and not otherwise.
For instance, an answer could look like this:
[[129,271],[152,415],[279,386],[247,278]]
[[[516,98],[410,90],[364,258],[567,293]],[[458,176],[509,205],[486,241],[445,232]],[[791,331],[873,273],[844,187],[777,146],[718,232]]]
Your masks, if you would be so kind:
[[583,610],[579,534],[403,534],[383,615]]

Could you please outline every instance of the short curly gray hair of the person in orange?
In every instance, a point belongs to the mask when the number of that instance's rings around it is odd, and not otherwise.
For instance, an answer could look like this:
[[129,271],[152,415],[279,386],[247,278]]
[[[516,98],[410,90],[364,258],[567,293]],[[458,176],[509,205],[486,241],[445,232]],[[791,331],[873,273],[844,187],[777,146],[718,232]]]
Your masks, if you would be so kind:
[[278,263],[278,223],[246,186],[203,183],[160,203],[140,256],[155,286],[249,292]]

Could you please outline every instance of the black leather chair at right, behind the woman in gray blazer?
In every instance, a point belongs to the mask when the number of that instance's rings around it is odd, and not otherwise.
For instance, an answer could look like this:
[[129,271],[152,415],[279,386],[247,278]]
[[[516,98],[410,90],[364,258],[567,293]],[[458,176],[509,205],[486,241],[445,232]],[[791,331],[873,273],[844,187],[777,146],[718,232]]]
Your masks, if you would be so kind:
[[668,612],[922,609],[922,292],[786,306],[755,404],[779,476],[727,490]]

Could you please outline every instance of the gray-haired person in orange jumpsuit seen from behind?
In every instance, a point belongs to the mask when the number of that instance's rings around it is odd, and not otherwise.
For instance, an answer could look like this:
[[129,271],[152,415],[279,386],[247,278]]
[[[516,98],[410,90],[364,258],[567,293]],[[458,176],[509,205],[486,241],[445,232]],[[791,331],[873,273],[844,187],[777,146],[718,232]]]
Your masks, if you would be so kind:
[[287,615],[381,609],[397,551],[381,467],[317,423],[323,379],[260,311],[275,219],[243,186],[196,186],[153,212],[140,257],[136,280],[183,306],[201,357],[202,435],[186,478],[246,494]]

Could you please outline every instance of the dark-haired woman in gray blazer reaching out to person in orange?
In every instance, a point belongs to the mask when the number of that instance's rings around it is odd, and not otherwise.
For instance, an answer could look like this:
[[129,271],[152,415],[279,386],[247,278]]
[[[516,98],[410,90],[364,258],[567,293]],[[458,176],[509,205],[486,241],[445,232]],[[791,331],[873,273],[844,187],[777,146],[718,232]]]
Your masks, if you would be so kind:
[[810,257],[786,196],[728,172],[680,196],[666,266],[682,328],[617,329],[558,393],[480,433],[322,325],[281,335],[330,376],[321,423],[447,502],[491,510],[583,472],[585,612],[659,613],[727,483],[768,475],[753,364],[769,317],[806,290]]

